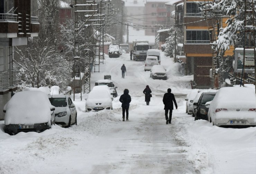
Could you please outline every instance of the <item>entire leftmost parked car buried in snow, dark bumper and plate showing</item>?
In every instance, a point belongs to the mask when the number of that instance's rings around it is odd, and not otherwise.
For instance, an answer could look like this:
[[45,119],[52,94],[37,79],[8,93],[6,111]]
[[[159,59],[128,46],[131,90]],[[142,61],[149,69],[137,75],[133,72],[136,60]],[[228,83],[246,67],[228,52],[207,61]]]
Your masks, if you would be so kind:
[[3,108],[4,131],[10,135],[19,132],[43,132],[55,124],[55,107],[42,91],[20,91]]

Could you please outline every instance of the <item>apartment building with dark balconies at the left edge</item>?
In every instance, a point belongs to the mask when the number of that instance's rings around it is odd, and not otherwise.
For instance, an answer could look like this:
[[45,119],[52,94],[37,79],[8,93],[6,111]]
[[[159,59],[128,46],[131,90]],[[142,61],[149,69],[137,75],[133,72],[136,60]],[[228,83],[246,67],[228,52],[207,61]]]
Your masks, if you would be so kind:
[[[28,37],[39,32],[37,0],[0,1],[0,110],[17,89],[13,69],[14,46],[27,45]],[[0,120],[4,113],[0,112]]]

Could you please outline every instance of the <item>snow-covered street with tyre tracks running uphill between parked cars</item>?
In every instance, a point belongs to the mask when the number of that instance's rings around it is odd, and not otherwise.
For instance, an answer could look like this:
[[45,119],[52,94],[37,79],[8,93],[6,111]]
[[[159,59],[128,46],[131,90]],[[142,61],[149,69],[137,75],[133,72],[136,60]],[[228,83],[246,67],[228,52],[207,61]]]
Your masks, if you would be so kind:
[[[105,57],[95,81],[111,75],[118,97],[113,110],[85,113],[85,95],[75,95],[77,125],[58,125],[42,133],[9,135],[0,121],[0,174],[255,174],[256,127],[220,128],[186,114],[184,98],[193,76],[182,76],[179,63],[161,52],[167,80],[153,80],[143,61]],[[121,66],[127,73],[121,78]],[[143,90],[149,85],[153,97],[146,105]],[[129,121],[122,122],[119,97],[129,89]],[[172,89],[178,109],[166,125],[162,102]],[[73,99],[73,94],[72,97]]]

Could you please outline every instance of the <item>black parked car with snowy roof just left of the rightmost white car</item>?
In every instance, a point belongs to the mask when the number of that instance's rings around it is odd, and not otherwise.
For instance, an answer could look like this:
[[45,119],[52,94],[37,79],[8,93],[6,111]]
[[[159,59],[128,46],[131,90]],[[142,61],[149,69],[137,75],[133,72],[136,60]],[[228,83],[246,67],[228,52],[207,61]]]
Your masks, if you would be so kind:
[[195,111],[195,120],[198,119],[204,119],[204,120],[208,120],[208,109],[207,107],[205,107],[205,103],[207,103],[208,101],[213,100],[214,96],[216,95],[215,93],[202,93],[198,103],[194,103],[194,105],[196,106],[196,111]]

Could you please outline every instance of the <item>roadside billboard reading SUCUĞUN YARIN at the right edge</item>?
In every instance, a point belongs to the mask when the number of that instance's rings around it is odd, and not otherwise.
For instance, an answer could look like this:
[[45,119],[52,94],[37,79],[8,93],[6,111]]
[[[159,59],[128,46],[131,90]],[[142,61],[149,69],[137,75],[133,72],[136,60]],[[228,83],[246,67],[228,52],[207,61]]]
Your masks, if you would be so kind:
[[233,63],[234,72],[242,72],[244,65],[244,72],[254,72],[254,50],[245,49],[245,61],[244,61],[244,48],[235,49],[235,60]]

